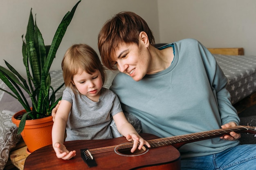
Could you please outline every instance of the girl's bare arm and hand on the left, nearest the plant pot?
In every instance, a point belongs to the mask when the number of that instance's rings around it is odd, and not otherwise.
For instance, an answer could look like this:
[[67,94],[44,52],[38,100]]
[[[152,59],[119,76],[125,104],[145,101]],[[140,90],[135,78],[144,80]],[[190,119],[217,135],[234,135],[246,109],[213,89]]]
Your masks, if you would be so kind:
[[69,152],[63,145],[67,119],[71,107],[72,104],[70,102],[63,100],[58,106],[52,126],[52,146],[56,152],[56,156],[62,159],[70,159],[76,155],[76,151]]

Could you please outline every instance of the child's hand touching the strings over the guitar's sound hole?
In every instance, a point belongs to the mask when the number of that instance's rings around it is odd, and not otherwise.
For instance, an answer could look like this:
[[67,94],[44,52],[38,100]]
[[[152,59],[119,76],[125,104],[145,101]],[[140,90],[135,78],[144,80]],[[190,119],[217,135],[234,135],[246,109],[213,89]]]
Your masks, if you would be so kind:
[[[126,135],[126,139],[128,141],[133,141],[133,146],[131,149],[131,152],[133,153],[137,148],[141,150],[141,148],[146,145],[148,148],[150,148],[150,144],[146,140],[144,140],[142,137],[139,136],[139,134],[136,133],[130,133]],[[138,147],[139,144],[139,147]]]

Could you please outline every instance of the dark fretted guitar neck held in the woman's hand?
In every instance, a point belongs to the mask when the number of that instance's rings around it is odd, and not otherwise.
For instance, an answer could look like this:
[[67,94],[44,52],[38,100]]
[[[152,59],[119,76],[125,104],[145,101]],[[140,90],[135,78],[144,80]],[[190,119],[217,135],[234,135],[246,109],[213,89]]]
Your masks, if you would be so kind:
[[246,133],[256,134],[255,131],[256,131],[255,127],[235,126],[230,128],[222,128],[222,129],[209,130],[204,132],[191,133],[188,135],[179,135],[179,136],[173,136],[173,137],[152,139],[152,140],[149,140],[148,143],[150,144],[151,148],[165,146],[165,145],[173,145],[175,146],[175,148],[180,148],[182,145],[187,143],[220,137],[223,135],[227,135],[230,132],[236,132],[236,133],[246,132]]

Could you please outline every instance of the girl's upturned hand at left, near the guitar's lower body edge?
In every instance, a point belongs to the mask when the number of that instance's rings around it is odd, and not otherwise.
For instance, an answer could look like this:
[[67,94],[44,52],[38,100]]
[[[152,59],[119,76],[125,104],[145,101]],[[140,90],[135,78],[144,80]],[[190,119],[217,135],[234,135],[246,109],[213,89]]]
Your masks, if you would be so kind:
[[76,151],[68,151],[67,148],[60,143],[55,143],[53,145],[54,151],[56,152],[56,156],[61,159],[71,159],[72,157],[76,156]]

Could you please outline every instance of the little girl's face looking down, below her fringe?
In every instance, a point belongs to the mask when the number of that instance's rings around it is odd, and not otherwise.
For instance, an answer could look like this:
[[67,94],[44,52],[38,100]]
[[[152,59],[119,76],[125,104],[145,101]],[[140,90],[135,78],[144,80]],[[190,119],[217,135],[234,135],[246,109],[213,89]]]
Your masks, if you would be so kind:
[[92,75],[85,71],[79,71],[79,74],[74,75],[72,83],[82,95],[86,95],[94,102],[99,101],[103,85],[99,70],[95,71]]

